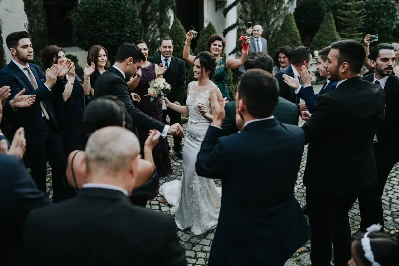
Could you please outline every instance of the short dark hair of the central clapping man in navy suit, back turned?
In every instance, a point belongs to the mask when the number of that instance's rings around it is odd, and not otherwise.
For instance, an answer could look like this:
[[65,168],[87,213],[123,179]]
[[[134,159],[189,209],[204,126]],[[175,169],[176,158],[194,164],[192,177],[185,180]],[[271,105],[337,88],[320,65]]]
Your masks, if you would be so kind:
[[279,100],[279,85],[269,72],[251,69],[244,73],[238,84],[238,100],[243,100],[247,111],[255,118],[273,114]]

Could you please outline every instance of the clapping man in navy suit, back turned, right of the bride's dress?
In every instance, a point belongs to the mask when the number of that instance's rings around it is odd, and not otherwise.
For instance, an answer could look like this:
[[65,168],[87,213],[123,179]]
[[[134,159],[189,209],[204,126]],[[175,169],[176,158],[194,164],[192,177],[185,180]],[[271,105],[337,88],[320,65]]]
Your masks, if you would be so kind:
[[283,266],[310,237],[294,197],[304,133],[274,118],[279,90],[272,74],[245,72],[237,92],[243,131],[221,137],[224,100],[212,92],[213,122],[195,164],[198,175],[222,179],[208,266]]

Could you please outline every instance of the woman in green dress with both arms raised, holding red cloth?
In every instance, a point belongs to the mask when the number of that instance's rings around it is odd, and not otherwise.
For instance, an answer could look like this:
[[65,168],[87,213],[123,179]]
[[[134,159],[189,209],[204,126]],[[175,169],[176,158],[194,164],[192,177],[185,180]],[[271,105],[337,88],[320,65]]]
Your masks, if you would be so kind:
[[[189,31],[188,33],[186,33],[186,42],[183,49],[183,58],[189,61],[191,65],[194,64],[195,60],[195,56],[190,55],[190,44],[193,38],[193,32],[194,31]],[[246,37],[245,43],[249,45],[249,42],[249,37]],[[220,55],[225,49],[225,46],[226,42],[220,35],[216,34],[209,37],[207,51],[212,53],[217,60],[216,72],[212,81],[216,84],[216,86],[218,86],[223,97],[227,98],[227,100],[229,101],[230,95],[228,94],[226,82],[227,71],[229,68],[235,69],[244,65],[248,53],[243,53],[240,59],[223,58]]]

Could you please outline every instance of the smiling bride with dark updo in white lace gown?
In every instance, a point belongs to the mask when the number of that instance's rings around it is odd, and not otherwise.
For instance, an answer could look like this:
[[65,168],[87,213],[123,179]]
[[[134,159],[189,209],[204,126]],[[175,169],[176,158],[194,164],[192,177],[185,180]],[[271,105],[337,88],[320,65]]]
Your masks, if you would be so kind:
[[[219,216],[221,188],[213,179],[198,176],[195,172],[197,154],[212,119],[209,92],[218,87],[211,81],[215,75],[216,58],[209,52],[201,52],[194,60],[194,78],[187,90],[186,106],[171,103],[165,99],[166,106],[189,116],[186,138],[183,147],[183,176],[181,181],[164,183],[159,192],[170,205],[178,228],[191,228],[195,235],[202,235],[217,225]],[[206,118],[207,117],[207,118]]]

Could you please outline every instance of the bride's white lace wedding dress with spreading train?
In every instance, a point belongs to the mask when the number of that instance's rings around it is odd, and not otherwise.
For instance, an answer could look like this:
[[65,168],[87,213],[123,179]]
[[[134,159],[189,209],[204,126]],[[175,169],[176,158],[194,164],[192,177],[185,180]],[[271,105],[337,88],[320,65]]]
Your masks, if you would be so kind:
[[220,210],[221,188],[213,179],[198,176],[195,162],[210,123],[199,113],[197,104],[205,103],[210,110],[209,90],[198,88],[192,82],[186,106],[189,109],[185,144],[183,147],[183,174],[181,181],[173,180],[161,185],[159,193],[173,205],[178,228],[191,228],[194,235],[202,235],[217,225]]

